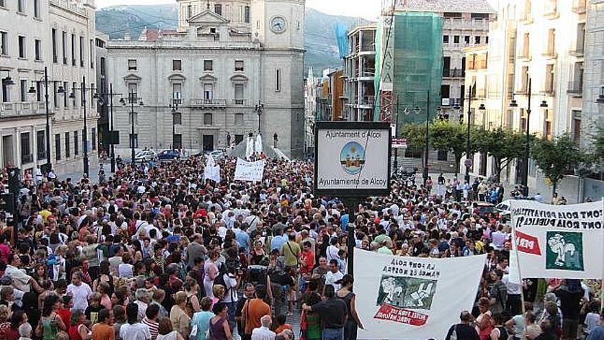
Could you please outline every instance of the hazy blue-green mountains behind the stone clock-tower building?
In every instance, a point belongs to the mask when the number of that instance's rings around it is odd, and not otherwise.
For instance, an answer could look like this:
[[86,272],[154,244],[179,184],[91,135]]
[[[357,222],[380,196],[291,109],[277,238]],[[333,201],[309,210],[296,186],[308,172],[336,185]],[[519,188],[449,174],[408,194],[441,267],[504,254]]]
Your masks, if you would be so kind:
[[[329,0],[327,0],[329,1]],[[312,8],[305,12],[304,73],[312,67],[316,75],[323,69],[342,66],[336,41],[336,23],[344,27],[366,25],[369,21],[352,16],[329,15]],[[173,29],[178,25],[176,3],[166,5],[117,5],[102,8],[96,12],[97,30],[108,34],[110,38],[123,38],[130,32],[132,38],[138,38],[144,27]]]

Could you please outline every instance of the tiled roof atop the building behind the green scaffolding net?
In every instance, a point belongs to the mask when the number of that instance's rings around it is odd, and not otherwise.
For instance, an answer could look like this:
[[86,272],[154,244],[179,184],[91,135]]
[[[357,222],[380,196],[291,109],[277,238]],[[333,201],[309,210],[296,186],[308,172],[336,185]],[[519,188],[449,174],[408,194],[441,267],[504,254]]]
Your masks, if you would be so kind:
[[495,13],[487,0],[396,0],[397,10],[413,12]]

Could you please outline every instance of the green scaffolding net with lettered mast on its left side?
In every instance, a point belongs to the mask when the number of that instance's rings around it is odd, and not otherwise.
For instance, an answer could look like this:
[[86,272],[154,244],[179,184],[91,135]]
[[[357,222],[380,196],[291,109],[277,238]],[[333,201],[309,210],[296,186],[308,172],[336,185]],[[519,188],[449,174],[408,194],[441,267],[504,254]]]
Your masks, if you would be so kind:
[[397,113],[401,124],[431,120],[441,104],[442,17],[395,12],[382,16],[376,35],[374,120],[397,120]]

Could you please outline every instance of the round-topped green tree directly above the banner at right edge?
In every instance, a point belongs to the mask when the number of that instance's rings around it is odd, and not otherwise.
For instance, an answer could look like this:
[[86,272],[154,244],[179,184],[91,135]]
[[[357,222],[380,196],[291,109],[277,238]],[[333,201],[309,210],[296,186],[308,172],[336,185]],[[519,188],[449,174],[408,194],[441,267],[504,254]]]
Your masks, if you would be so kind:
[[560,135],[553,140],[535,139],[531,158],[552,183],[552,193],[555,193],[558,183],[564,178],[564,172],[579,165],[585,155],[568,135]]

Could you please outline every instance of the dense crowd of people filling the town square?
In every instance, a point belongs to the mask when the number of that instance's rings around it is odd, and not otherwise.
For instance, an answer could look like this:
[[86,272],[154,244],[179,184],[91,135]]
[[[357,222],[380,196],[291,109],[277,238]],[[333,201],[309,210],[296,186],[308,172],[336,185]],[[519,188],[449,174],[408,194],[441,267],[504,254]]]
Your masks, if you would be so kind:
[[448,339],[602,339],[590,286],[551,280],[541,297],[542,282],[508,280],[509,223],[463,190],[393,180],[346,207],[313,196],[310,162],[268,159],[251,183],[233,180],[235,161],[216,161],[220,183],[195,156],[124,164],[102,183],[23,181],[16,216],[0,212],[0,340],[356,339],[348,238],[397,256],[488,254]]

